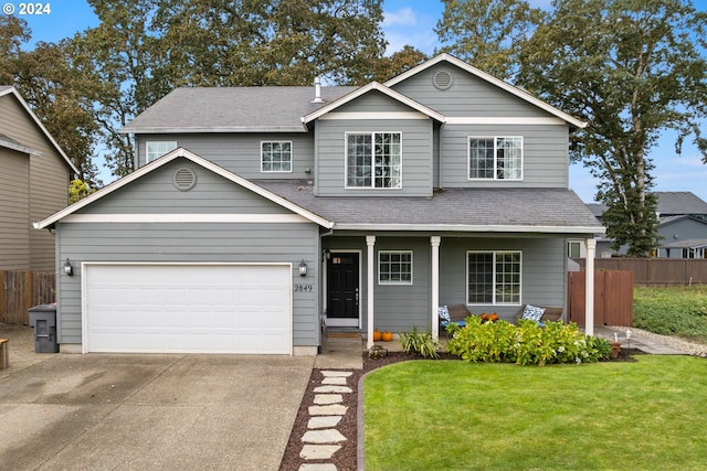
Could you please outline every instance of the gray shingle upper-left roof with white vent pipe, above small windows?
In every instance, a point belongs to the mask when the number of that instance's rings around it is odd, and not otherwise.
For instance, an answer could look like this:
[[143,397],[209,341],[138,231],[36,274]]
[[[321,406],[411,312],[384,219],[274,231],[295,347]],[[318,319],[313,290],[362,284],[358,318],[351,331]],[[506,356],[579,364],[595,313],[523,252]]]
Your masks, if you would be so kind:
[[[120,132],[305,132],[302,117],[358,87],[176,88]],[[253,113],[257,110],[258,113]]]

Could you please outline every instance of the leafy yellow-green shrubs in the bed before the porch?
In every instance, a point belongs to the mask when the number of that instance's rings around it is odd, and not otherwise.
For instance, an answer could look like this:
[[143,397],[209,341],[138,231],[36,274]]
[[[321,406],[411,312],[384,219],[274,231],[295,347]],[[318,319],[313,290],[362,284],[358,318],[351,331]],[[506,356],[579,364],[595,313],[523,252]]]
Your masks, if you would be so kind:
[[514,325],[506,321],[482,322],[477,315],[466,327],[451,324],[446,351],[467,362],[504,362],[519,365],[591,363],[609,358],[609,341],[579,331],[576,323],[532,321]]

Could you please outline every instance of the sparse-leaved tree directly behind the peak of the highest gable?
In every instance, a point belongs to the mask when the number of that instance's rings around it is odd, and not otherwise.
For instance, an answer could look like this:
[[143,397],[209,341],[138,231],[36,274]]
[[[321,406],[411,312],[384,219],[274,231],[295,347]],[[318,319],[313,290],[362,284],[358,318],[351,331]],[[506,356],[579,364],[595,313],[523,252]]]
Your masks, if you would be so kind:
[[518,73],[521,45],[546,13],[523,0],[443,0],[435,32],[442,47],[502,79]]

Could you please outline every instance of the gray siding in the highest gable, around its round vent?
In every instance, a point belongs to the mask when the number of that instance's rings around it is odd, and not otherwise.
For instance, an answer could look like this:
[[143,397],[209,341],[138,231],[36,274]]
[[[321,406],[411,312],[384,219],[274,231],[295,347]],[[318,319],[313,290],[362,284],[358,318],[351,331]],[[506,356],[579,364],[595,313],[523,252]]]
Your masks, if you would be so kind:
[[[452,74],[446,90],[434,87],[432,78],[440,69]],[[445,116],[540,117],[547,111],[449,64],[437,64],[393,86],[399,92]]]

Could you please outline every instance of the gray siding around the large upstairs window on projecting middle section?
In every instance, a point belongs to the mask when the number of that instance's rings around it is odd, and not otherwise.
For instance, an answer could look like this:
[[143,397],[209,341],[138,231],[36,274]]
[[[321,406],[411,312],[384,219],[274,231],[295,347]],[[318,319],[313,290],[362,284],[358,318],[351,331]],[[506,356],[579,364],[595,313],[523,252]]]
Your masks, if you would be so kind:
[[[402,189],[346,189],[347,132],[402,132]],[[319,196],[432,195],[432,120],[317,121],[315,191]]]

